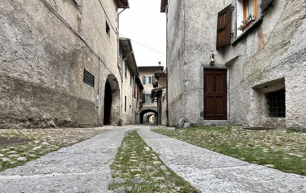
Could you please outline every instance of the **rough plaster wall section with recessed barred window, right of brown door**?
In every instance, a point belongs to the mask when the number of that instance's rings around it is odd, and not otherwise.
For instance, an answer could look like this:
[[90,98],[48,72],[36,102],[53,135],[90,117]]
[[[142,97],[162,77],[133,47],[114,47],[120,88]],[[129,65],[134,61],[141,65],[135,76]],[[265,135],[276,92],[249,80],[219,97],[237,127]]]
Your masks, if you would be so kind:
[[[238,56],[228,66],[230,121],[251,126],[305,128],[306,3],[279,0],[273,5],[263,13],[258,28],[239,40],[231,51],[224,52],[225,62]],[[270,118],[265,93],[282,86],[286,90],[286,117]]]

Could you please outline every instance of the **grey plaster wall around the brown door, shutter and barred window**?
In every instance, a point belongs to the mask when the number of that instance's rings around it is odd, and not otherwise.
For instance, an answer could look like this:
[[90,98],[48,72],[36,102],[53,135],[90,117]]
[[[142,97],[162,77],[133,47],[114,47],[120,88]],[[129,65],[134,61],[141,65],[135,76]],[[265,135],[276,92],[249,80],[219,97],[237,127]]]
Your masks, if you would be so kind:
[[[170,1],[168,9],[169,122],[205,124],[203,70],[227,68],[228,120],[236,125],[306,128],[306,1],[274,0],[259,25],[236,39],[237,0]],[[216,50],[218,13],[232,4],[233,45]],[[178,8],[179,7],[179,8]],[[238,33],[240,34],[240,33]],[[210,52],[216,62],[209,63]],[[267,86],[267,87],[266,87]],[[286,117],[270,118],[266,93],[285,88]],[[228,122],[227,122],[228,123]]]

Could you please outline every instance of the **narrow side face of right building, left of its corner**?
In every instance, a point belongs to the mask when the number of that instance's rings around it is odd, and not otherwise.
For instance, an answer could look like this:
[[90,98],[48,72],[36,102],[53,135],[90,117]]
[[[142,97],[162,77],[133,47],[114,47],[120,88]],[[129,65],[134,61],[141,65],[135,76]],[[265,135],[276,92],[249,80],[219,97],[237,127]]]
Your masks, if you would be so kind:
[[185,0],[168,4],[168,109],[169,125],[185,117]]

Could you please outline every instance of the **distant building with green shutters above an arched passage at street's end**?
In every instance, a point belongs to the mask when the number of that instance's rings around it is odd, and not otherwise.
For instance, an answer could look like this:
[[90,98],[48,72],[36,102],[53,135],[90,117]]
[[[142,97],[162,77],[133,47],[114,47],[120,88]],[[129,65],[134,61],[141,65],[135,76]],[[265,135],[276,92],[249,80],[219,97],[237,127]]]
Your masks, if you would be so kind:
[[138,66],[139,77],[142,78],[143,91],[140,102],[140,123],[157,123],[157,102],[151,98],[154,74],[156,71],[162,71],[163,66]]

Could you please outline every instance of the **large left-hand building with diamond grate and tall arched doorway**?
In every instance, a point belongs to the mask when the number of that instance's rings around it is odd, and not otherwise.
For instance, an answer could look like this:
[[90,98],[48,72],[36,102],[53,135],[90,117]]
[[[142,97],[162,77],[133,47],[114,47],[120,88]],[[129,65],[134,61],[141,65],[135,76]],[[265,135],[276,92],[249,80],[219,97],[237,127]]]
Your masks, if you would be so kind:
[[0,7],[0,128],[117,124],[118,8],[128,0],[1,0]]

